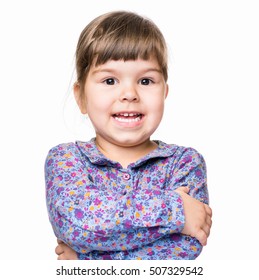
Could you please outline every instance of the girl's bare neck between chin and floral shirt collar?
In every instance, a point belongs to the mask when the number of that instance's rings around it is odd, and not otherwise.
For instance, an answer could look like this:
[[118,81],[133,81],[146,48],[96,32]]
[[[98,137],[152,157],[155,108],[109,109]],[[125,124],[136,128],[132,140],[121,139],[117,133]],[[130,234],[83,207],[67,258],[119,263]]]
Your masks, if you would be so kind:
[[108,159],[117,161],[123,168],[127,168],[129,164],[143,158],[151,151],[157,148],[157,144],[150,139],[143,143],[133,146],[120,146],[108,141],[104,141],[100,137],[96,137],[96,146],[99,151]]

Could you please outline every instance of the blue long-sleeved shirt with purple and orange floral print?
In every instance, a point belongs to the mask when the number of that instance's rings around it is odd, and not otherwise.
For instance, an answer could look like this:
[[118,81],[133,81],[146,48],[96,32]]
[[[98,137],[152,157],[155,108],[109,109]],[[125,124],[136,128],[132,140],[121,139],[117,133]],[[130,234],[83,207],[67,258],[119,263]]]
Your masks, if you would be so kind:
[[46,201],[57,238],[79,259],[195,259],[201,244],[181,234],[175,189],[208,203],[206,166],[192,148],[158,147],[126,169],[89,142],[52,148],[45,162]]

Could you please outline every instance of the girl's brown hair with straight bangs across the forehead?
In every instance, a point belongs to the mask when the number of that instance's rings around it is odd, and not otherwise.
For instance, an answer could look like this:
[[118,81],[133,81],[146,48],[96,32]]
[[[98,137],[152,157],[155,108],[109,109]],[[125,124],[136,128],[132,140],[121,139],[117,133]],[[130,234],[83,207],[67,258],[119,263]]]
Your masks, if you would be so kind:
[[76,49],[77,82],[84,83],[92,65],[108,60],[157,59],[167,81],[167,47],[159,28],[132,12],[101,15],[82,31]]

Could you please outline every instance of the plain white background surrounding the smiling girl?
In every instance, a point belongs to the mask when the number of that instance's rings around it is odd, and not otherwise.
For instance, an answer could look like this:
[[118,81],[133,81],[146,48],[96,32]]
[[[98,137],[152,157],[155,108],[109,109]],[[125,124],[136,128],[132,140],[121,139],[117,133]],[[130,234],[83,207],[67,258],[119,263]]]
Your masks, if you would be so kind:
[[257,2],[1,1],[0,258],[56,259],[44,161],[54,145],[94,136],[72,99],[76,43],[90,20],[123,9],[151,18],[170,49],[153,139],[194,147],[207,162],[214,216],[199,259],[259,259]]

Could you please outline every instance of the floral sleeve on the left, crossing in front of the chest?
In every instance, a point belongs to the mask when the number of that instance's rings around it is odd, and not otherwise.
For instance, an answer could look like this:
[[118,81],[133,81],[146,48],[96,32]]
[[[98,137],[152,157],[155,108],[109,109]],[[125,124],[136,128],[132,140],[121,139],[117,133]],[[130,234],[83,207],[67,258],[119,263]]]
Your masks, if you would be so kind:
[[[181,232],[184,215],[176,192],[154,188],[119,195],[99,189],[75,151],[56,147],[45,164],[50,222],[56,236],[75,251],[132,250]],[[138,216],[139,202],[144,219]]]

